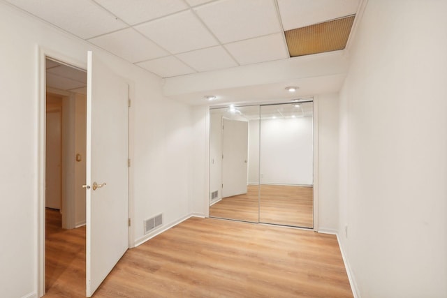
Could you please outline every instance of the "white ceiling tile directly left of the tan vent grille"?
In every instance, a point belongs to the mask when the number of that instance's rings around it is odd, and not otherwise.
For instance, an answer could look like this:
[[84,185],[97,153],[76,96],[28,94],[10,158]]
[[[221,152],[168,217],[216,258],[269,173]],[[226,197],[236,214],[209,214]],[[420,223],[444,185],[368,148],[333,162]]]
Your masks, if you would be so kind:
[[243,65],[289,58],[283,33],[228,43],[225,47]]

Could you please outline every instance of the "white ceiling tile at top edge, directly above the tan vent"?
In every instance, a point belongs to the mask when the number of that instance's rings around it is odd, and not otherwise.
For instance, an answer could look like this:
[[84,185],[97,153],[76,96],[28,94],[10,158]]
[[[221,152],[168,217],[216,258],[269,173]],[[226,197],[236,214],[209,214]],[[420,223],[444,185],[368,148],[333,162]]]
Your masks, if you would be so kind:
[[284,30],[334,20],[357,12],[360,0],[278,0]]

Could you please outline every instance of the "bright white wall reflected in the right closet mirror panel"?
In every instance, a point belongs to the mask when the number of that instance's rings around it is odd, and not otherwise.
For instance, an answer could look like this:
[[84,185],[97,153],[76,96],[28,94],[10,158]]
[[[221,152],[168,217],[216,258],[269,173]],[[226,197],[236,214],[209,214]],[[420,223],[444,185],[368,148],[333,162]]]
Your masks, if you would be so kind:
[[313,150],[313,117],[261,119],[261,184],[314,184]]

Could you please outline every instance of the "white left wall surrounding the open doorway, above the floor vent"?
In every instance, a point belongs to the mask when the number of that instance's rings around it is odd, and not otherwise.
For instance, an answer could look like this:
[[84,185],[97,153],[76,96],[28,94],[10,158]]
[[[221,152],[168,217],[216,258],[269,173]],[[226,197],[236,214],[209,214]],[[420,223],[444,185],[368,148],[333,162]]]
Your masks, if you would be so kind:
[[[133,228],[189,214],[191,108],[161,96],[161,79],[0,2],[0,296],[37,295],[38,46],[87,65],[94,50],[131,82]],[[7,200],[8,199],[8,200]],[[6,245],[7,244],[7,245]]]

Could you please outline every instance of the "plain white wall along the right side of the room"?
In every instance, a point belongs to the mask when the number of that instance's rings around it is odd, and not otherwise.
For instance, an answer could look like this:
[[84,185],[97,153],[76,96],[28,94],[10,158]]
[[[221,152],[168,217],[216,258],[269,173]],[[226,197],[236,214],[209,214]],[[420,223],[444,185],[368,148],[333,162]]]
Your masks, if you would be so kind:
[[446,297],[446,11],[368,1],[350,50],[339,233],[362,298]]

